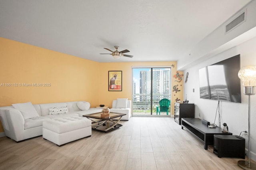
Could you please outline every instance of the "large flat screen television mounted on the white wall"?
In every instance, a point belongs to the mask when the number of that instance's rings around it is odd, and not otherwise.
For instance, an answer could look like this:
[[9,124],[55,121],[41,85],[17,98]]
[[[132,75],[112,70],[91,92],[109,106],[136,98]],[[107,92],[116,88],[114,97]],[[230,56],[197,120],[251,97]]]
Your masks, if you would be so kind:
[[199,69],[200,98],[241,103],[240,54]]

